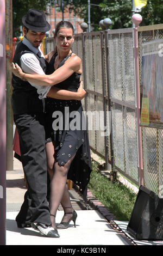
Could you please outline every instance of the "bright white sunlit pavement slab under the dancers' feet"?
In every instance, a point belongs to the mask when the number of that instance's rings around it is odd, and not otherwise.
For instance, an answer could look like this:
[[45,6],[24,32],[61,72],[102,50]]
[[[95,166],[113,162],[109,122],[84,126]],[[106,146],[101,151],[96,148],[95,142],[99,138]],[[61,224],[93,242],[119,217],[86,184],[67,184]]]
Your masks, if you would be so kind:
[[[7,245],[128,245],[96,210],[77,210],[77,227],[58,230],[60,237],[45,237],[32,228],[17,228],[17,212],[7,213]],[[57,214],[60,222],[63,212]]]

